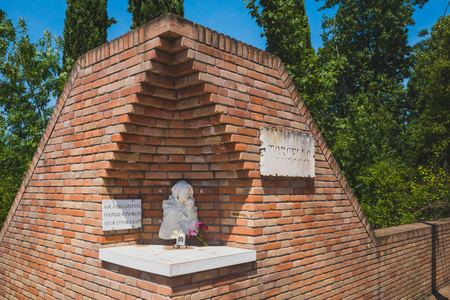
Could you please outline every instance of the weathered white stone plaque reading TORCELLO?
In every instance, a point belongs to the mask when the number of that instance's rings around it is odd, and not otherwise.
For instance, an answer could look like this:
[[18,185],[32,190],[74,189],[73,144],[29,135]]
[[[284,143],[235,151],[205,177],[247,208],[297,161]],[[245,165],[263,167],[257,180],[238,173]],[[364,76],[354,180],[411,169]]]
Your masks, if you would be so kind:
[[261,175],[315,177],[314,136],[263,126],[260,140]]

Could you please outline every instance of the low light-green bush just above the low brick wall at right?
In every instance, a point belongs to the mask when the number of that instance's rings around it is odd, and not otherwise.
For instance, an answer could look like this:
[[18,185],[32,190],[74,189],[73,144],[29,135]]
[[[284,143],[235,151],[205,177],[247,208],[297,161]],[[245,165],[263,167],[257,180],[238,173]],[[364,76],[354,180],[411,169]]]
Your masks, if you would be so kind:
[[436,220],[450,215],[450,178],[432,166],[383,160],[362,172],[361,206],[375,228]]

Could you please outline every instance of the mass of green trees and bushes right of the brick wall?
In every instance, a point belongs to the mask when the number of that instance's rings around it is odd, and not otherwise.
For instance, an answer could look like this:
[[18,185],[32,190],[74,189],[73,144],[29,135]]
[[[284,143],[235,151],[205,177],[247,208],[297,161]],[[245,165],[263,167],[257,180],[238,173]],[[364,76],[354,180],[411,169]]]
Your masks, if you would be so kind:
[[245,0],[375,228],[450,216],[449,17],[407,44],[427,1],[325,0],[314,53],[304,1]]

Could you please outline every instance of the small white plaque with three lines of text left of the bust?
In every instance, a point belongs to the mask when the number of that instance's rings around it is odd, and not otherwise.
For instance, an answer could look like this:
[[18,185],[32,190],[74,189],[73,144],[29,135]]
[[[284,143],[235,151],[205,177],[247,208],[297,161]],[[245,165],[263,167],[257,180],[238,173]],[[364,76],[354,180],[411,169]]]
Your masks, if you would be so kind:
[[141,227],[141,199],[102,200],[103,231]]

